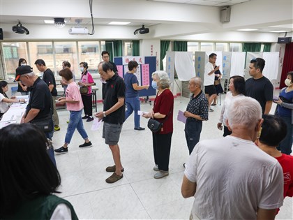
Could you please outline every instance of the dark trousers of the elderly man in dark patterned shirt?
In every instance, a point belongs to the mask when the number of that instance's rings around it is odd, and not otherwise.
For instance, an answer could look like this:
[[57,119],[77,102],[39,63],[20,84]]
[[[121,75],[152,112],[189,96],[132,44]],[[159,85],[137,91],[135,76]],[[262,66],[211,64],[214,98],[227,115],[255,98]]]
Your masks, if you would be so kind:
[[195,145],[200,141],[200,133],[202,132],[202,122],[187,119],[184,131],[190,155],[191,152],[193,152],[193,148],[195,148]]

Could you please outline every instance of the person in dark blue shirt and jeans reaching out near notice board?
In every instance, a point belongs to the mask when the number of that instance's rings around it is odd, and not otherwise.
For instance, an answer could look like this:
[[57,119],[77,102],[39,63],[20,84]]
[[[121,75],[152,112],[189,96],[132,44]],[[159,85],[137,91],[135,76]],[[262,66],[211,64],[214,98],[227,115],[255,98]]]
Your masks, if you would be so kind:
[[140,97],[138,91],[142,89],[149,89],[149,85],[140,86],[137,77],[134,73],[137,71],[137,61],[129,61],[128,72],[124,75],[124,82],[126,85],[126,119],[135,112],[135,130],[142,131],[144,128],[140,126],[140,115],[137,111],[140,111]]

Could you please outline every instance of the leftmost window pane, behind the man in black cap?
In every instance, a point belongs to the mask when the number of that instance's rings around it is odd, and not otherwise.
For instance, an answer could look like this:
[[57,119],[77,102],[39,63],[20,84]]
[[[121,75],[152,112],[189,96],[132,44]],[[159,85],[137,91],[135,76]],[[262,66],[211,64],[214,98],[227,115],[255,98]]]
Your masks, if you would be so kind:
[[7,78],[15,78],[15,69],[20,58],[27,59],[27,43],[5,42],[2,43],[4,68]]

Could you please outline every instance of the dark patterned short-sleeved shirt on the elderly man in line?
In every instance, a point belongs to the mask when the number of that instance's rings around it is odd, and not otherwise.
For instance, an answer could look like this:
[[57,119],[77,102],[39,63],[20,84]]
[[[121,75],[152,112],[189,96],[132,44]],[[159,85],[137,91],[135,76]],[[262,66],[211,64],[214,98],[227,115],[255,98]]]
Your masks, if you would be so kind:
[[[186,111],[193,113],[194,115],[199,115],[204,120],[209,119],[209,102],[202,91],[200,91],[200,94],[195,97],[193,97],[193,94],[190,96],[190,101],[187,105]],[[188,117],[187,119],[201,122],[193,117]]]

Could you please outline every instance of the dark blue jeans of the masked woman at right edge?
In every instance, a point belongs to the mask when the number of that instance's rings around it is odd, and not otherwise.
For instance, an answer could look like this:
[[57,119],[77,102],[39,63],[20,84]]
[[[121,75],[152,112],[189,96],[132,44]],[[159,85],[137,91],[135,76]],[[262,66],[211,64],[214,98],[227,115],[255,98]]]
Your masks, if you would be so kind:
[[286,125],[287,125],[287,135],[285,138],[280,142],[280,145],[278,145],[277,149],[280,150],[283,154],[290,155],[292,152],[292,122],[291,122],[291,117],[283,117],[278,115],[278,117],[282,118]]

